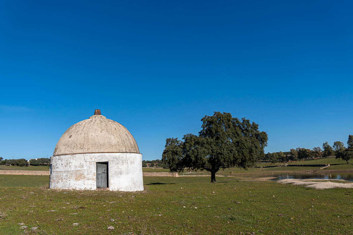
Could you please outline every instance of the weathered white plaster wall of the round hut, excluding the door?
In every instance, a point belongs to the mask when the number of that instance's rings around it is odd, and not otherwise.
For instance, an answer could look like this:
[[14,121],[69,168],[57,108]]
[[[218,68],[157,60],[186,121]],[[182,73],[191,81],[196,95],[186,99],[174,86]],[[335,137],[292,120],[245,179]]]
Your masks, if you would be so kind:
[[108,162],[112,191],[143,191],[142,154],[88,153],[50,157],[50,188],[96,190],[96,162]]

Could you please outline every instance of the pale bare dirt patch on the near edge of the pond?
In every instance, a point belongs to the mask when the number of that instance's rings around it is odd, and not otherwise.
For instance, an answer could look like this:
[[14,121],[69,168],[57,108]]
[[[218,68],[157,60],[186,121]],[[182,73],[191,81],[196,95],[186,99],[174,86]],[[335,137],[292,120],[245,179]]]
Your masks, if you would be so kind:
[[[327,188],[353,188],[353,183],[346,180],[335,180],[331,182],[328,180],[317,180],[317,179],[283,179],[277,181],[281,184],[292,184],[292,185],[305,185],[305,187],[316,188],[316,189],[327,189]],[[342,182],[340,182],[342,181]],[[338,183],[339,182],[339,183]]]

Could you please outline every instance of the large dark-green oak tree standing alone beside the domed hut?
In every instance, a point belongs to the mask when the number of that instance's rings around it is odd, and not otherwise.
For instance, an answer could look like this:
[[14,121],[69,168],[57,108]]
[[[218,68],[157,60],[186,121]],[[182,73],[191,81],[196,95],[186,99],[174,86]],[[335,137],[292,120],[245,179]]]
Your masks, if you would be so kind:
[[167,138],[162,159],[171,172],[205,169],[211,172],[211,183],[216,183],[215,175],[221,168],[247,169],[264,156],[268,137],[255,122],[225,112],[214,112],[201,121],[198,135],[186,134],[183,141]]

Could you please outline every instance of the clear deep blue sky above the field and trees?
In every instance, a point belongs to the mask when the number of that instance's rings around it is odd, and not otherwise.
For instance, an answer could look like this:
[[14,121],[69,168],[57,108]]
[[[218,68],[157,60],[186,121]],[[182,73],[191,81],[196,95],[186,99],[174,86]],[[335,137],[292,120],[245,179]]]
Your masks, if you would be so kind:
[[0,2],[0,156],[51,156],[101,109],[144,160],[214,111],[246,117],[265,152],[353,135],[353,2]]

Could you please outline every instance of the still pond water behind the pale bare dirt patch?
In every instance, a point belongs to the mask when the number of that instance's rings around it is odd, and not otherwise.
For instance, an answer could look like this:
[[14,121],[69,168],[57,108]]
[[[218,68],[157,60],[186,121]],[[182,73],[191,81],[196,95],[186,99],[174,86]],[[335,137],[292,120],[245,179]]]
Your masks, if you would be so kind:
[[353,172],[337,172],[337,173],[303,173],[303,174],[283,174],[276,175],[276,179],[333,179],[353,181]]

